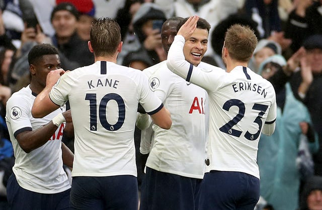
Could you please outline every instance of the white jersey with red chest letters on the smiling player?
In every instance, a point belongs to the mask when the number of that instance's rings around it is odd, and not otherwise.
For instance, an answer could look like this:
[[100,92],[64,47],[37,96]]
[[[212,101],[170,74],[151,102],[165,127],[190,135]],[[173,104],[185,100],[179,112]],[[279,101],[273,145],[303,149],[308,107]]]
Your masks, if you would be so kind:
[[162,172],[203,178],[208,132],[205,116],[209,114],[206,110],[207,92],[172,73],[166,61],[145,69],[143,73],[172,118],[169,130],[152,126],[154,138],[146,166]]

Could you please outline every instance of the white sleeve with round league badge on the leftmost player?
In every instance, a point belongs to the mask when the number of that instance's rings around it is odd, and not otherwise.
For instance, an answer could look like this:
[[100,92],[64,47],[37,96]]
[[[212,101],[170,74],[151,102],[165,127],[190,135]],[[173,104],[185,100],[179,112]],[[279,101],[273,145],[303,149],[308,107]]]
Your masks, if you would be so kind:
[[15,137],[23,131],[32,130],[30,122],[31,106],[26,100],[21,97],[12,96],[7,102],[6,109],[6,121],[10,123],[12,133]]

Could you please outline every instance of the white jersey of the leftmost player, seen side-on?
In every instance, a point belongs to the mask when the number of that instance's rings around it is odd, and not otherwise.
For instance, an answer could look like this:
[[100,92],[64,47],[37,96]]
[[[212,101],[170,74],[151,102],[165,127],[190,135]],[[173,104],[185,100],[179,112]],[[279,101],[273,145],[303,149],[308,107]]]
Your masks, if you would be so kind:
[[46,125],[65,111],[63,106],[43,118],[33,118],[31,108],[35,98],[36,94],[27,86],[14,93],[7,102],[6,122],[16,157],[13,172],[19,185],[25,189],[39,193],[62,192],[70,188],[61,157],[65,123],[57,128],[49,141],[30,153],[26,153],[16,139],[19,133]]

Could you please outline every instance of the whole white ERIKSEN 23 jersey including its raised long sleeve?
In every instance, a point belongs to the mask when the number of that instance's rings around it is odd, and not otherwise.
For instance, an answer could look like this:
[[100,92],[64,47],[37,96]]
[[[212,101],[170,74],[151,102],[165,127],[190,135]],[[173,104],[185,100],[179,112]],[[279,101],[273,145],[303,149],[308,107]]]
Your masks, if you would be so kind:
[[168,67],[208,92],[210,122],[206,171],[239,171],[259,178],[260,134],[276,119],[272,84],[243,66],[235,67],[230,73],[194,67],[184,60],[184,43],[182,36],[176,36],[168,54]]

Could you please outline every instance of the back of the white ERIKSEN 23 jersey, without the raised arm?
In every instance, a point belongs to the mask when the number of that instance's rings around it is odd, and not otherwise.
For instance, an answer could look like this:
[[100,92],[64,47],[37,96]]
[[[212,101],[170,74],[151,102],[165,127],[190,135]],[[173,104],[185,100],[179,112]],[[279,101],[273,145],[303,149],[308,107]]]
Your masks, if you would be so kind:
[[[216,78],[209,94],[211,156],[208,170],[241,171],[259,177],[257,150],[265,122],[275,120],[271,83],[246,67],[237,66]],[[218,117],[220,115],[220,117]]]

